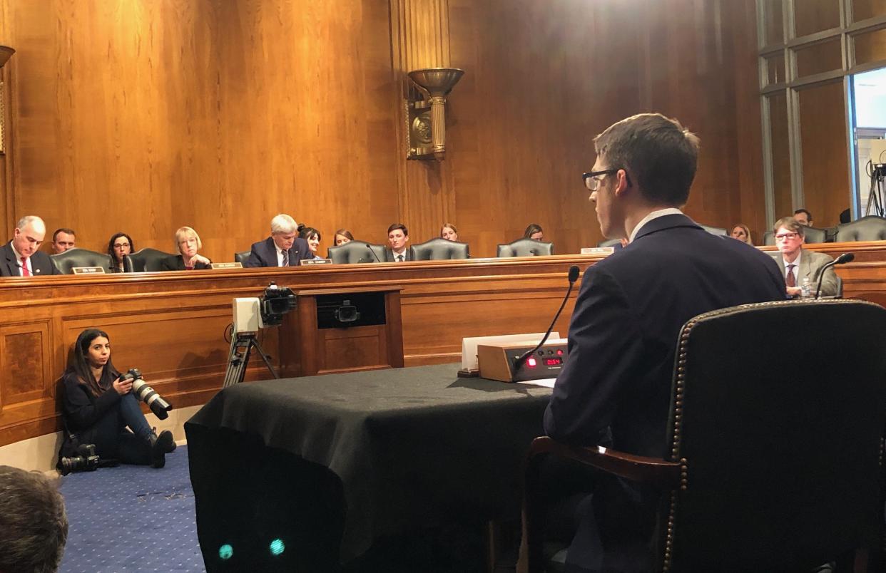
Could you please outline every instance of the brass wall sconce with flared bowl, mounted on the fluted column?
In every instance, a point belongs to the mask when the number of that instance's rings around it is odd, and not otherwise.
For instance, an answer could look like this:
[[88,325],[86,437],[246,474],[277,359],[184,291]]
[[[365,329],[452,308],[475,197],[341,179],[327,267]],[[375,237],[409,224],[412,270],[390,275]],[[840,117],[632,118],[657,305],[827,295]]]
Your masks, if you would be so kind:
[[424,99],[409,99],[407,107],[407,159],[437,159],[446,155],[446,97],[464,75],[455,67],[413,70],[409,79]]

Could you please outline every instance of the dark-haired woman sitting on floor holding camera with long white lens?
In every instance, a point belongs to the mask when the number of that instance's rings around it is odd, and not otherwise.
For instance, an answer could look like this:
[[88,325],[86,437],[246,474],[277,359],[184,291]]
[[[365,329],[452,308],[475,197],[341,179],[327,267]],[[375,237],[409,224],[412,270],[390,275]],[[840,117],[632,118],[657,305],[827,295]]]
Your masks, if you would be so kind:
[[98,329],[80,333],[73,364],[62,382],[67,430],[62,456],[69,456],[79,445],[94,444],[101,460],[153,468],[165,465],[165,455],[175,450],[172,432],[164,430],[158,437],[148,425],[132,393],[132,380],[120,380],[120,372],[113,367],[107,333]]

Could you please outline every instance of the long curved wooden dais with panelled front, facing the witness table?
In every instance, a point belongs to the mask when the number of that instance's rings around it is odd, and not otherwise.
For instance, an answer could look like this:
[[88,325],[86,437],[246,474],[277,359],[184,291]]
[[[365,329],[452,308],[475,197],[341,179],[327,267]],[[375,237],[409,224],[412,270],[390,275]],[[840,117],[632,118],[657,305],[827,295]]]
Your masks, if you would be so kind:
[[[806,248],[833,256],[854,252],[858,262],[836,269],[843,295],[886,303],[886,242]],[[292,290],[400,288],[405,364],[421,366],[459,360],[462,337],[547,329],[566,292],[569,267],[584,271],[599,259],[556,255],[4,279],[0,445],[58,430],[56,381],[74,340],[88,327],[108,332],[118,369],[141,368],[176,407],[194,406],[221,388],[231,299],[259,296],[271,281]],[[562,335],[574,298],[556,323]],[[279,367],[280,345],[291,341],[278,340],[276,329],[262,336]],[[260,360],[251,361],[247,380],[269,376]]]

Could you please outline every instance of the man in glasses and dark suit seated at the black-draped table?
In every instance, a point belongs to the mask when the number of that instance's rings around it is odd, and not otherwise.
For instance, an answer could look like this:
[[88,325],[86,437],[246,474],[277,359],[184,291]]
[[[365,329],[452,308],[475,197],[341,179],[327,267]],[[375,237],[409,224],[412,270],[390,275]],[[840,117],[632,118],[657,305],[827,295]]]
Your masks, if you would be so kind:
[[[594,170],[584,177],[603,235],[631,242],[582,279],[569,359],[544,428],[573,445],[664,457],[682,325],[713,309],[784,298],[784,281],[769,255],[713,236],[680,212],[698,140],[679,123],[634,116],[604,131],[595,148]],[[658,494],[614,477],[588,479],[574,506],[567,570],[652,569]]]

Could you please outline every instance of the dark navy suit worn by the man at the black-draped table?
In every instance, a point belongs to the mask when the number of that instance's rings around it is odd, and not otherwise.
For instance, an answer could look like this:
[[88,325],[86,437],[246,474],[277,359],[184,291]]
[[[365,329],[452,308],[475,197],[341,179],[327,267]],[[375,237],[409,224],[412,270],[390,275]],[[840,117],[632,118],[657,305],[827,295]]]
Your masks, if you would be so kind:
[[[713,236],[682,214],[649,221],[633,243],[588,268],[582,279],[568,360],[545,412],[545,432],[569,444],[664,457],[683,324],[717,308],[784,299],[784,289],[768,254]],[[651,567],[644,547],[657,502],[652,490],[601,479],[579,506],[567,562],[591,570]],[[627,546],[637,545],[625,554],[611,550],[613,531],[630,531]]]

